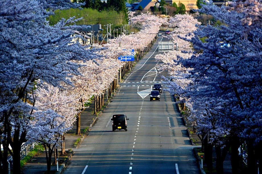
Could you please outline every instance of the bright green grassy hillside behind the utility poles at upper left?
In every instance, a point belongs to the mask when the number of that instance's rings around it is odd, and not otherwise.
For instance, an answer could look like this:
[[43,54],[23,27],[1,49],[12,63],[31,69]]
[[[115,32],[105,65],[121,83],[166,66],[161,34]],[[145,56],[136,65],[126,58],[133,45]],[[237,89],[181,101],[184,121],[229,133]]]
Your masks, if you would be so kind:
[[[62,18],[69,19],[75,16],[76,19],[83,17],[83,20],[78,21],[77,25],[92,25],[101,24],[102,28],[106,24],[114,24],[122,26],[127,24],[125,15],[123,12],[116,11],[97,11],[93,9],[68,9],[68,10],[56,10],[55,15],[49,16],[47,20],[50,21],[50,25],[56,24]],[[105,28],[103,28],[105,30]]]

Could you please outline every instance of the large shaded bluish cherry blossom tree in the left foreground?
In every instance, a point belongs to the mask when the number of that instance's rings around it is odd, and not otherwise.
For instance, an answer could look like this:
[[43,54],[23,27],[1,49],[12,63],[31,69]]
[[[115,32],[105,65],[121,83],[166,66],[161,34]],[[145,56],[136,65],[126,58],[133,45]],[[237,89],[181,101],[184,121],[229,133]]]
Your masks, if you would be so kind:
[[[92,50],[73,43],[72,25],[77,20],[62,19],[50,26],[46,17],[53,10],[80,6],[71,1],[1,1],[0,13],[0,160],[7,173],[8,152],[13,157],[13,172],[20,173],[20,150],[25,141],[36,81],[53,86],[71,85],[69,74],[80,74],[78,60],[95,57]],[[12,151],[9,149],[9,144]]]

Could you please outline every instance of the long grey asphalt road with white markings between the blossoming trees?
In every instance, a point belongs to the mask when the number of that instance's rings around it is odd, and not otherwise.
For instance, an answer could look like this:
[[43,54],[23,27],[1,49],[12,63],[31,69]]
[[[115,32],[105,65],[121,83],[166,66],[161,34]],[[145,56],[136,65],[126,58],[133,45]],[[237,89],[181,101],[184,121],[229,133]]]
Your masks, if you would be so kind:
[[[151,51],[120,84],[105,112],[75,150],[64,174],[200,173],[193,146],[173,97],[163,91],[150,101],[151,85],[161,83],[155,66],[158,37]],[[164,87],[165,88],[165,87]],[[128,131],[112,132],[113,114],[129,118]]]

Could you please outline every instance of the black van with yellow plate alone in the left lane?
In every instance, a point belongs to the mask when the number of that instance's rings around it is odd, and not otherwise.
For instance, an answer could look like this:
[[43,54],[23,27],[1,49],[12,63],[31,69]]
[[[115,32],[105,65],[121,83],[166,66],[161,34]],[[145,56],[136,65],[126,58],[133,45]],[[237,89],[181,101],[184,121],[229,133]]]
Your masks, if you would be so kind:
[[129,118],[126,118],[126,114],[114,114],[112,120],[112,131],[122,130],[127,131],[127,122]]

